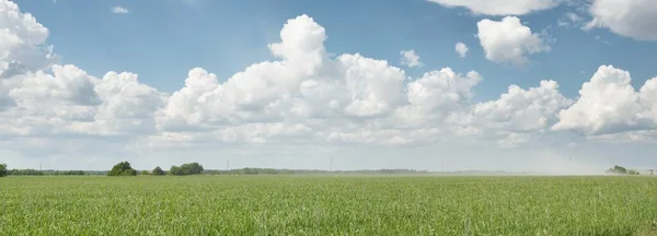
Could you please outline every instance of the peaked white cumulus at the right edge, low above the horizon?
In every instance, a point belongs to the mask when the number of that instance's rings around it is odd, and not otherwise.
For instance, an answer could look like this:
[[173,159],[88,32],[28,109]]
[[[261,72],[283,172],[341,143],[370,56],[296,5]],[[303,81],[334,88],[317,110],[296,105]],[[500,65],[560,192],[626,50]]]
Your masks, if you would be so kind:
[[657,78],[641,91],[630,84],[627,71],[601,66],[579,90],[573,106],[558,114],[553,130],[573,130],[588,135],[654,129],[657,120]]

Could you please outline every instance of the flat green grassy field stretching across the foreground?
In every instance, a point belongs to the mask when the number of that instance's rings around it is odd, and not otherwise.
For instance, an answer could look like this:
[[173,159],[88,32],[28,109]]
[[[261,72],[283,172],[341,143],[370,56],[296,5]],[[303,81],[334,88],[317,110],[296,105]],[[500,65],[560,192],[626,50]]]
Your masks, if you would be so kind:
[[0,178],[0,235],[654,235],[657,178]]

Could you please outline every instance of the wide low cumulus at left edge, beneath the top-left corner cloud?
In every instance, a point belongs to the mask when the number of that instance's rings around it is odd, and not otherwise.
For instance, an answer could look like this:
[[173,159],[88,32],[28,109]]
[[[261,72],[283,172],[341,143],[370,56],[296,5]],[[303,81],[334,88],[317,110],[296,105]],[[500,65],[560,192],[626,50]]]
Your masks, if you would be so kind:
[[0,113],[0,118],[7,120],[0,135],[154,131],[152,117],[163,97],[157,90],[140,84],[136,74],[108,72],[101,80],[72,64],[55,64],[51,70],[53,74],[38,71],[12,78],[9,96],[14,103]]

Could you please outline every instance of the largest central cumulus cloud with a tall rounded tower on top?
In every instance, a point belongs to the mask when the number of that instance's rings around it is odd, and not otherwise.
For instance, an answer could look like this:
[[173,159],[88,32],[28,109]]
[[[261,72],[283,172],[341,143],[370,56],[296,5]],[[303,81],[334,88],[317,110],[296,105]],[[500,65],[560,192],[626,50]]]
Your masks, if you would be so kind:
[[[330,58],[323,46],[324,32],[301,15],[288,21],[281,42],[270,46],[279,61],[253,64],[224,83],[203,69],[192,70],[185,87],[174,92],[158,113],[160,129],[170,137],[184,132],[185,140],[197,139],[197,130],[216,133],[203,134],[205,139],[227,140],[217,132],[252,127],[261,129],[251,131],[256,137],[239,140],[431,143],[437,141],[431,134],[445,133],[438,128],[441,120],[468,113],[472,87],[482,80],[474,71],[458,74],[445,68],[405,85],[404,71],[387,61],[358,54]],[[266,134],[279,126],[303,127],[302,139]]]

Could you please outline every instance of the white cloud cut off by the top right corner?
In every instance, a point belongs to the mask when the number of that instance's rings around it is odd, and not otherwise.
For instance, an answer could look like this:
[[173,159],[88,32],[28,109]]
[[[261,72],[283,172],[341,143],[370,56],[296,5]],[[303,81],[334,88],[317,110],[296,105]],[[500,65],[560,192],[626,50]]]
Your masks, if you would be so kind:
[[657,1],[593,0],[589,13],[593,17],[586,30],[606,27],[611,32],[639,39],[657,40]]

